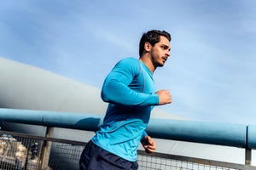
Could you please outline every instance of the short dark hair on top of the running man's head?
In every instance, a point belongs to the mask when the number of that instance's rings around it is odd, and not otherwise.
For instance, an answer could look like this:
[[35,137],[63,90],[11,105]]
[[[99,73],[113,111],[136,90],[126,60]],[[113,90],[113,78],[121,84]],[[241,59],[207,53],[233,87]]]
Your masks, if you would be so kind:
[[160,42],[160,36],[166,37],[169,41],[172,40],[171,35],[166,31],[151,30],[147,33],[143,33],[143,37],[140,40],[140,57],[143,55],[145,42],[149,42],[154,47],[155,43]]

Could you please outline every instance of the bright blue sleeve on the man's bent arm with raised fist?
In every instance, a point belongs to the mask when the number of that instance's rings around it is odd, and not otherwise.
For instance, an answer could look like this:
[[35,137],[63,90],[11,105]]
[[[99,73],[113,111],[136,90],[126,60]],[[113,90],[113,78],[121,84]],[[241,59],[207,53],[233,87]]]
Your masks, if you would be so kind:
[[102,99],[119,105],[158,105],[157,94],[138,93],[128,85],[139,74],[137,59],[122,59],[106,77],[102,86]]

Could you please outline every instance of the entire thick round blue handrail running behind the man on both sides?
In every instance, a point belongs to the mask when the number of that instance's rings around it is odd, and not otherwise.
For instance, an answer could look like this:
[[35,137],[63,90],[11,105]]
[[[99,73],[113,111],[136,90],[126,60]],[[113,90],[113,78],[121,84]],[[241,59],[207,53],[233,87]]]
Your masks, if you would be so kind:
[[[103,116],[86,113],[0,109],[0,122],[96,131]],[[256,149],[256,126],[215,122],[151,119],[147,133],[159,139]]]

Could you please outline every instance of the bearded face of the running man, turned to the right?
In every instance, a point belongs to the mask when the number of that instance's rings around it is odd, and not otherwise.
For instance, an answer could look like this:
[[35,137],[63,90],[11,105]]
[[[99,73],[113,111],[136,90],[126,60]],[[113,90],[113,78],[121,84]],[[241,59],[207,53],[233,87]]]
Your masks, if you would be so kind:
[[160,36],[160,42],[155,43],[154,47],[151,47],[149,50],[155,68],[165,65],[166,60],[170,56],[170,50],[169,40],[164,36]]

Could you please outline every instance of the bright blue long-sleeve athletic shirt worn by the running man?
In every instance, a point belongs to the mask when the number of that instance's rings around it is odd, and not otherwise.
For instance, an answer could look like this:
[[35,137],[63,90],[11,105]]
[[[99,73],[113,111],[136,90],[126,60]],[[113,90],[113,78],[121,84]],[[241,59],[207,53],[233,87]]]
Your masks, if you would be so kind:
[[136,161],[150,112],[159,104],[151,71],[139,59],[120,60],[103,83],[102,99],[109,103],[108,110],[92,142],[128,161]]

